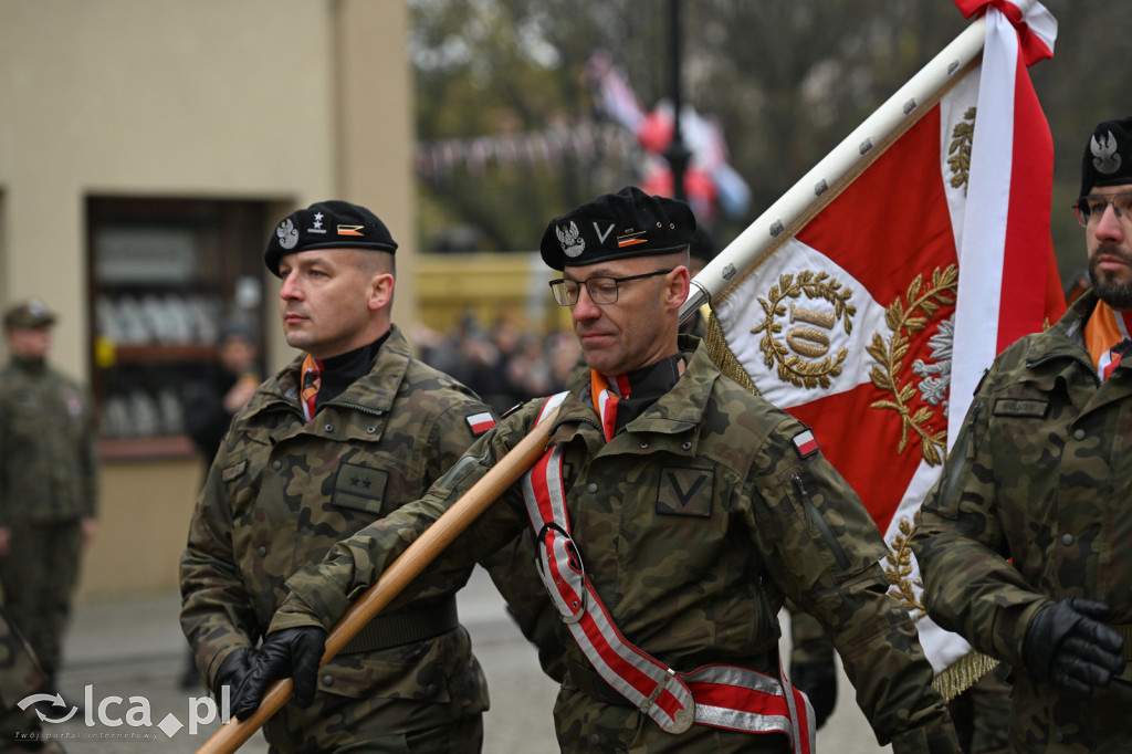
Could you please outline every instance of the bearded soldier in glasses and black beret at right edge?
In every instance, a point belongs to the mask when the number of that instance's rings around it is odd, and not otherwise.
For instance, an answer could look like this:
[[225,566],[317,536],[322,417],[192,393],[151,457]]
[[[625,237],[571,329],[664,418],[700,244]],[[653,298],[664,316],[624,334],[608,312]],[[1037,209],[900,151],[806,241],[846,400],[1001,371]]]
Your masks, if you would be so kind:
[[912,540],[929,615],[1012,668],[1024,752],[1132,751],[1132,118],[1077,211],[1092,289],[995,359]]

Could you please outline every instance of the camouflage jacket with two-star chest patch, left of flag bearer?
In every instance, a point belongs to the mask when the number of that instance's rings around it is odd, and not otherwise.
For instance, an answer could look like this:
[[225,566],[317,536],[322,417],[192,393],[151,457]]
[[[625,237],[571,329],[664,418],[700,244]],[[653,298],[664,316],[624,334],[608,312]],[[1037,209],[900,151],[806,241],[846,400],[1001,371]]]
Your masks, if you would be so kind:
[[[469,418],[490,412],[463,385],[413,359],[394,327],[369,375],[306,423],[301,361],[260,385],[233,418],[190,524],[181,625],[209,686],[232,651],[258,643],[295,569],[420,497],[472,444]],[[452,599],[469,573],[417,582],[383,616]],[[439,717],[414,713],[418,727],[487,708],[486,682],[462,626],[392,649],[343,651],[319,678],[320,695],[377,699],[391,708],[398,697],[435,702]],[[389,720],[388,732],[397,732],[400,723]]]

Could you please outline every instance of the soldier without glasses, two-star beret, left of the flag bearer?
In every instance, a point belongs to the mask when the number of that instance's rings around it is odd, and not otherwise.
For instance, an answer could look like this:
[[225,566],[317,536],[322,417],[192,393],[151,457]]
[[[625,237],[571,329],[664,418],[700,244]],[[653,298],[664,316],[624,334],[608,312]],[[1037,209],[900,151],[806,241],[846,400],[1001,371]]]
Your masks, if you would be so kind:
[[[228,685],[238,699],[272,659],[257,643],[298,568],[420,497],[494,423],[391,324],[395,249],[380,220],[344,202],[291,214],[267,247],[288,343],[307,354],[234,417],[192,517],[181,624],[214,693]],[[478,752],[487,687],[455,605],[469,573],[414,582],[299,678],[265,727],[272,749]],[[305,641],[315,669],[323,637]]]

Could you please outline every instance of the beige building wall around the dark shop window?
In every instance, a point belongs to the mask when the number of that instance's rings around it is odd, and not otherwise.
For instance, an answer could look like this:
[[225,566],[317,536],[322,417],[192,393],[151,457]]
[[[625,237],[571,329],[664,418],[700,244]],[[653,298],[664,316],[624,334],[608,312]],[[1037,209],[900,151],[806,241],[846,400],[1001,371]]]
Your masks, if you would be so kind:
[[[404,3],[0,0],[0,306],[59,311],[63,371],[89,379],[91,194],[256,199],[273,219],[366,204],[404,250],[394,317],[412,323]],[[293,353],[264,290],[274,369]],[[108,463],[83,591],[175,584],[198,483],[190,457]]]

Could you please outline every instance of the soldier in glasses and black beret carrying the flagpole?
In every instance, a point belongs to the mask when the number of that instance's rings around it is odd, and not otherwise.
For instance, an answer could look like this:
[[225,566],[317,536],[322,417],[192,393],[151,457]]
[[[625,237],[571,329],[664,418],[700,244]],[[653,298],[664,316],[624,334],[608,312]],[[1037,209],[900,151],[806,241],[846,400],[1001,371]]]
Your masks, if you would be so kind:
[[[885,546],[859,499],[803,442],[805,427],[721,376],[698,339],[677,335],[694,228],[684,203],[626,188],[556,219],[543,238],[547,263],[565,265],[556,299],[571,306],[593,368],[565,395],[551,430],[573,567],[584,564],[617,628],[666,667],[734,663],[775,679],[775,688],[778,611],[789,596],[830,631],[880,742],[900,753],[957,752],[916,629],[887,594]],[[607,380],[619,386],[616,414],[592,391],[591,382]],[[541,408],[534,401],[509,413],[423,499],[300,568],[267,643],[332,625],[530,431]],[[506,490],[437,568],[463,568],[531,528],[526,485]],[[667,732],[642,712],[648,703],[638,709],[614,691],[557,627],[568,668],[555,706],[563,751],[790,751],[782,732],[701,723]],[[290,650],[288,670],[308,662],[303,648]]]

